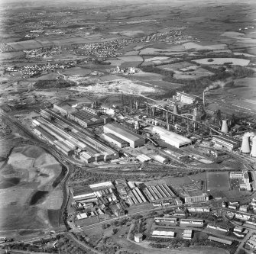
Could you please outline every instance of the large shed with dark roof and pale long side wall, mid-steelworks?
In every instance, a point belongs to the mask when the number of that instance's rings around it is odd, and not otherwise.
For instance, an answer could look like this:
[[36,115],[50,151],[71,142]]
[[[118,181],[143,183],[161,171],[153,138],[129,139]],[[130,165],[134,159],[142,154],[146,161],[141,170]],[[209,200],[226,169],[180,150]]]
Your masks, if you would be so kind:
[[145,143],[145,140],[143,137],[118,124],[106,124],[104,125],[103,130],[104,130],[104,133],[112,133],[116,137],[119,137],[122,140],[125,140],[133,148],[138,146],[143,146]]

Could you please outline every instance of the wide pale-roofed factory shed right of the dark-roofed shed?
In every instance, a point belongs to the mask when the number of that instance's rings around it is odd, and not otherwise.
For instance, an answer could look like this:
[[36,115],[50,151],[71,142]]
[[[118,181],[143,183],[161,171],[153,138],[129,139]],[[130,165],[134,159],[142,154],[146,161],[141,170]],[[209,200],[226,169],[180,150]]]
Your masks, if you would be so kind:
[[169,130],[165,130],[164,128],[154,126],[152,127],[152,132],[157,133],[160,136],[161,140],[170,144],[171,146],[175,146],[177,148],[181,146],[186,146],[192,143],[192,140],[183,137],[177,133],[174,133]]

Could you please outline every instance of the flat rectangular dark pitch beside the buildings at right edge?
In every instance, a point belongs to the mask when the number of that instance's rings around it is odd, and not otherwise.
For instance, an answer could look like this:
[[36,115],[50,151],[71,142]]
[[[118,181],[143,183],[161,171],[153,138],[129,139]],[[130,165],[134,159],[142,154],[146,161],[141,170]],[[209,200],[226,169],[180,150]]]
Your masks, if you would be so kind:
[[230,189],[228,172],[207,172],[207,191],[228,191]]

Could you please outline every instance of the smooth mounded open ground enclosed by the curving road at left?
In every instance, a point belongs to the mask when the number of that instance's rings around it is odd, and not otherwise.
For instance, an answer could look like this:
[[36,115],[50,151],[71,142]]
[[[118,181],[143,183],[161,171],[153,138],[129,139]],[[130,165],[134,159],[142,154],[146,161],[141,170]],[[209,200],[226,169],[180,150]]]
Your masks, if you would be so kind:
[[42,148],[15,147],[0,171],[1,230],[13,235],[8,230],[37,233],[58,227],[59,216],[52,214],[60,213],[63,192],[58,185],[54,188],[53,182],[61,172],[59,162]]

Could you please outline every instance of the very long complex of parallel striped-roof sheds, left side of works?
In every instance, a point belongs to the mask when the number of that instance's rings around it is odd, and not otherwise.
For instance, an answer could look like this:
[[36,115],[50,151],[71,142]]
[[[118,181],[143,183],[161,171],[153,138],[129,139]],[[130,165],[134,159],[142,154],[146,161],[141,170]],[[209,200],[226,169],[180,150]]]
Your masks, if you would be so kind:
[[109,146],[105,146],[96,138],[89,137],[86,132],[83,133],[60,119],[55,118],[54,121],[49,121],[44,117],[38,117],[37,120],[32,121],[32,124],[34,133],[38,137],[47,140],[67,156],[74,153],[77,159],[86,163],[108,161],[119,157],[118,153]]

